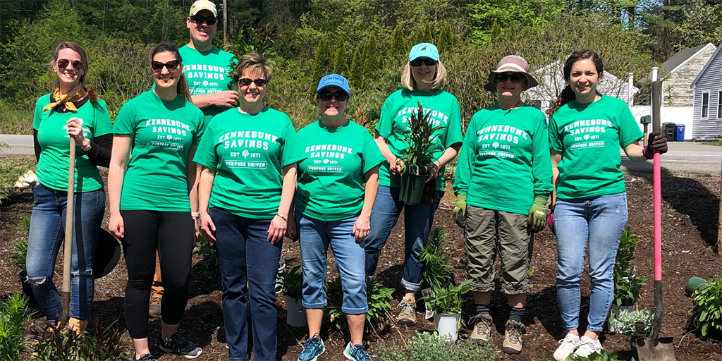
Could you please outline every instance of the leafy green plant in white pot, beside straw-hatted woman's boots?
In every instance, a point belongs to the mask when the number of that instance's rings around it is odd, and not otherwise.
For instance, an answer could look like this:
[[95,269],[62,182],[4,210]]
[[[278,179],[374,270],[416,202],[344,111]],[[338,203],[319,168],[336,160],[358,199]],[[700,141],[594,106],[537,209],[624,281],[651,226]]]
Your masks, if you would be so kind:
[[428,308],[434,312],[434,326],[445,339],[456,341],[461,326],[461,295],[471,291],[471,279],[458,286],[432,287],[432,294],[425,297]]

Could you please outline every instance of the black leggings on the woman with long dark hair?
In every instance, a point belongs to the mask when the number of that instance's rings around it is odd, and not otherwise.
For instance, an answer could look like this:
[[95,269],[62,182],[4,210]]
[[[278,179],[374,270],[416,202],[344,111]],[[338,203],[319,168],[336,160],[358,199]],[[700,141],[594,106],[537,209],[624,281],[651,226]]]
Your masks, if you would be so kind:
[[121,211],[125,225],[123,253],[128,267],[124,307],[126,326],[134,339],[148,336],[150,287],[155,274],[155,251],[163,275],[163,323],[181,323],[188,303],[191,256],[196,243],[190,212]]

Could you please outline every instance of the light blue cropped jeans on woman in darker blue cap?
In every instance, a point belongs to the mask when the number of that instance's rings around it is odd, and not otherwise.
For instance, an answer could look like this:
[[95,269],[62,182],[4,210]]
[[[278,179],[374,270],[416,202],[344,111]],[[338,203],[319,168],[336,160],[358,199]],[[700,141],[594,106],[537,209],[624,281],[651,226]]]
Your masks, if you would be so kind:
[[322,221],[296,212],[303,267],[303,307],[326,307],[326,257],[329,244],[336,258],[344,299],[343,313],[361,315],[368,310],[364,250],[351,234],[358,216]]

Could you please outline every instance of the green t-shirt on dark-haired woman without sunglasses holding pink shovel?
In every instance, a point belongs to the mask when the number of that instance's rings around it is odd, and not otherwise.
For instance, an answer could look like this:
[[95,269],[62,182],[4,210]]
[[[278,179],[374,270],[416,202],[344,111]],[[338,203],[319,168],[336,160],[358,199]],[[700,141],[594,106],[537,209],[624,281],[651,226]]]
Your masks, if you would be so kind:
[[587,199],[625,191],[619,147],[643,136],[630,108],[615,97],[603,95],[590,104],[572,100],[559,108],[549,120],[549,147],[562,154],[557,197]]

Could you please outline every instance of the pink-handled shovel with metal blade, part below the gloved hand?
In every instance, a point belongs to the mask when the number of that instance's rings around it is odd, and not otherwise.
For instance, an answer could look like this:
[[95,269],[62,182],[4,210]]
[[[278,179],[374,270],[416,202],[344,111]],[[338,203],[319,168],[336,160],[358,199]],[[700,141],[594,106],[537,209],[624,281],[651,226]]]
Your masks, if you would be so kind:
[[659,153],[654,153],[654,323],[648,337],[632,339],[637,361],[677,361],[671,337],[659,337],[662,328],[662,216]]

